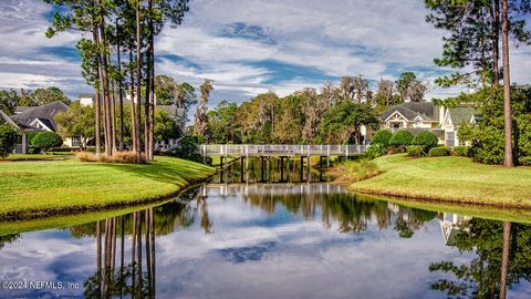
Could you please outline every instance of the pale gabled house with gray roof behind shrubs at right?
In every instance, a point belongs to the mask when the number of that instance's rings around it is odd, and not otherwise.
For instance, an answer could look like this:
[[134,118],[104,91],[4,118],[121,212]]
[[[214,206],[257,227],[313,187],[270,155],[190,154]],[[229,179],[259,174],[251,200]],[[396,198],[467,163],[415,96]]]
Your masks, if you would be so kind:
[[447,146],[462,144],[457,137],[461,124],[476,124],[472,106],[447,109],[431,102],[405,102],[384,111],[381,118],[383,128],[392,132],[407,130],[414,134],[431,131],[439,137],[439,143]]

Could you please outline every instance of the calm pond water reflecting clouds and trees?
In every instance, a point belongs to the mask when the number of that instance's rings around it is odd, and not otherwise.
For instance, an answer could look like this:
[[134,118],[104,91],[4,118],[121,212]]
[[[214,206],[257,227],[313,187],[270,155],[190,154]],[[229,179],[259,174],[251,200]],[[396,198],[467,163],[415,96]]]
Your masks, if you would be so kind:
[[[254,167],[248,183],[233,164],[162,206],[0,237],[0,281],[33,283],[0,297],[498,297],[502,223],[364,198],[319,173],[252,183]],[[300,181],[289,167],[271,181]],[[508,298],[531,298],[530,225],[511,225],[508,252]]]

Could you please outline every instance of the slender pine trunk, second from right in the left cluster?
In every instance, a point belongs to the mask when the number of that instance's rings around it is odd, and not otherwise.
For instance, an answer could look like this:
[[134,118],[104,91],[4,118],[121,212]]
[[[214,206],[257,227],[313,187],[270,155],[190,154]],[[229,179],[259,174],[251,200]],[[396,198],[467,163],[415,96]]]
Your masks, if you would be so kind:
[[136,162],[142,163],[142,143],[140,143],[140,87],[142,87],[142,38],[140,38],[140,2],[136,4]]

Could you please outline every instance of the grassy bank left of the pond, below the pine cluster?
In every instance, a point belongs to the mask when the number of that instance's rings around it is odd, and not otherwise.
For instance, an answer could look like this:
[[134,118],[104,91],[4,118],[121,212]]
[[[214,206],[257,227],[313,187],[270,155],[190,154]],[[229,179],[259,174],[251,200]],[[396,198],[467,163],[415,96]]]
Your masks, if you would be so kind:
[[164,198],[214,174],[173,157],[146,165],[74,159],[0,163],[0,219],[96,210]]

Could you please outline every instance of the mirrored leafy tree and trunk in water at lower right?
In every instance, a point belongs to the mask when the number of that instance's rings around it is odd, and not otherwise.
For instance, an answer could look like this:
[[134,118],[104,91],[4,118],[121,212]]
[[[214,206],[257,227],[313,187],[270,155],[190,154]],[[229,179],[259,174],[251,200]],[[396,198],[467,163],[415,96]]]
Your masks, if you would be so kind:
[[430,265],[430,271],[455,276],[455,280],[440,279],[431,286],[448,297],[504,298],[506,287],[520,279],[531,281],[530,225],[472,219],[469,231],[456,235],[455,246],[460,252],[473,252],[477,257],[465,265]]

